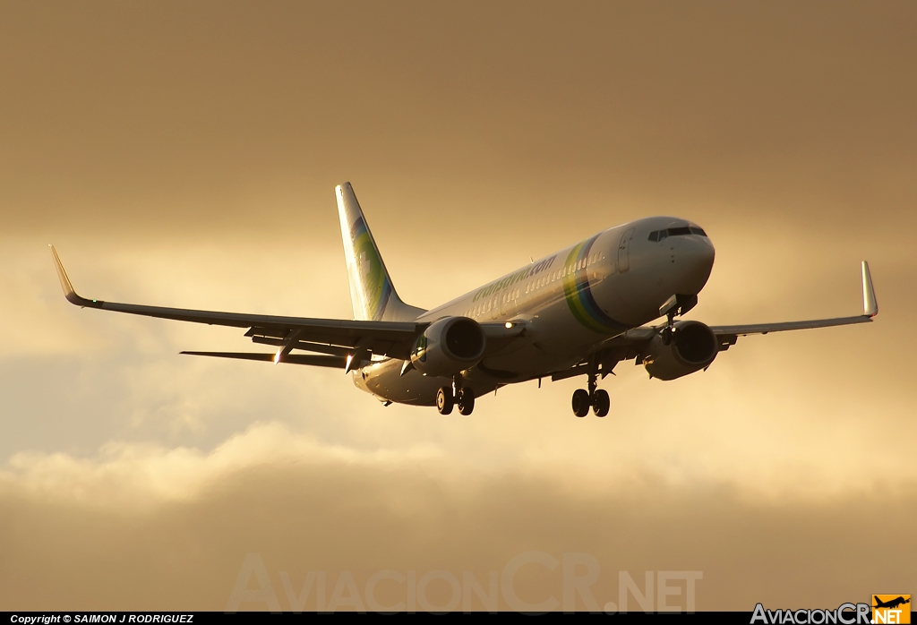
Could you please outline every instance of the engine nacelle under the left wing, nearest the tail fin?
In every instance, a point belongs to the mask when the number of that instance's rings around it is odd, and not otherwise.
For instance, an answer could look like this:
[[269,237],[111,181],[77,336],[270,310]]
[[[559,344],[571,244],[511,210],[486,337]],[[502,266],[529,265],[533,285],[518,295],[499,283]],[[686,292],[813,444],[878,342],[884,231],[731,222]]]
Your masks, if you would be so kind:
[[481,325],[468,317],[446,317],[417,337],[411,350],[414,368],[427,376],[452,376],[481,361],[487,338]]

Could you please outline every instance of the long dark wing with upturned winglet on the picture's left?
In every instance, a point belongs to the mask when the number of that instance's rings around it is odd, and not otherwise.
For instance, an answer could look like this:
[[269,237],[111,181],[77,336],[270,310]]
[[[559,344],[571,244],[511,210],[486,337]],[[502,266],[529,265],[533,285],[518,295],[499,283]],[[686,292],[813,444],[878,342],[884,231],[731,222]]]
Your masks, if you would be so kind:
[[[279,347],[280,349],[276,356],[284,361],[286,361],[287,355],[293,349],[303,349],[337,357],[346,357],[358,351],[408,358],[417,334],[420,334],[427,325],[427,323],[414,322],[349,321],[282,317],[267,314],[219,313],[215,311],[196,311],[183,308],[165,308],[86,299],[74,291],[71,281],[67,277],[67,272],[61,264],[61,258],[58,257],[57,251],[53,246],[50,248],[51,255],[54,257],[54,264],[57,267],[58,278],[61,280],[64,296],[72,304],[85,308],[100,308],[105,311],[138,314],[160,319],[249,328],[246,336],[251,337],[255,343]],[[216,353],[208,355],[215,356]],[[240,356],[238,354],[223,357],[249,358],[249,356]],[[337,359],[334,362],[337,363]],[[319,364],[317,361],[306,362],[304,360],[301,360],[301,363]],[[331,363],[331,360],[327,360],[322,361],[321,365],[337,366],[337,364]]]

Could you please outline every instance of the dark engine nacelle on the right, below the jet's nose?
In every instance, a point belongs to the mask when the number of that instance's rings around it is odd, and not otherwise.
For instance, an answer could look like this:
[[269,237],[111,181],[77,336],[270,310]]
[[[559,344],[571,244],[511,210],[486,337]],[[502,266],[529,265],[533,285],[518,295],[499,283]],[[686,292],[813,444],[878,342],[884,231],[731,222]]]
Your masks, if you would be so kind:
[[698,321],[682,321],[675,323],[668,345],[661,334],[652,338],[643,363],[650,378],[675,379],[708,367],[719,351],[713,330]]

